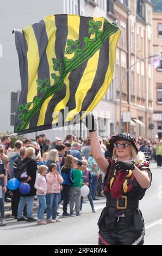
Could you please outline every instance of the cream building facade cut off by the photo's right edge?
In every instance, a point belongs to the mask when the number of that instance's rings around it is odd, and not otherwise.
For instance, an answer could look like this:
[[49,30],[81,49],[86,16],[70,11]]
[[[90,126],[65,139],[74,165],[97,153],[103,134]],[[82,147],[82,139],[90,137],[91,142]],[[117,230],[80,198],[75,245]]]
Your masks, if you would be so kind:
[[[162,13],[153,13],[153,54],[162,54]],[[162,138],[162,56],[157,68],[153,70],[153,137]]]

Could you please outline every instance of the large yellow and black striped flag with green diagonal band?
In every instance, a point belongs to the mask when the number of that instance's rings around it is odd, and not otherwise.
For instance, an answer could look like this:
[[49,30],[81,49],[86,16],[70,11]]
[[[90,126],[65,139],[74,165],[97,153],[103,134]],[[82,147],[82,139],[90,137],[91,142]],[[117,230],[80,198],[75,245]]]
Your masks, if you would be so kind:
[[119,27],[104,17],[51,15],[14,32],[22,86],[15,132],[82,120],[113,78]]

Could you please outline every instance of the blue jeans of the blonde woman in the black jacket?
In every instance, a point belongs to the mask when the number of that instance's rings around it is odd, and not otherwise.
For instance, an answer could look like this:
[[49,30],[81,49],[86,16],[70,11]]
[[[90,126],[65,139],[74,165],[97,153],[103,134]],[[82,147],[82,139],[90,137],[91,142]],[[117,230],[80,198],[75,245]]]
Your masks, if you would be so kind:
[[28,203],[27,204],[27,217],[28,218],[33,217],[34,196],[33,197],[20,197],[20,202],[18,203],[17,218],[22,218],[23,209],[24,209],[26,202]]

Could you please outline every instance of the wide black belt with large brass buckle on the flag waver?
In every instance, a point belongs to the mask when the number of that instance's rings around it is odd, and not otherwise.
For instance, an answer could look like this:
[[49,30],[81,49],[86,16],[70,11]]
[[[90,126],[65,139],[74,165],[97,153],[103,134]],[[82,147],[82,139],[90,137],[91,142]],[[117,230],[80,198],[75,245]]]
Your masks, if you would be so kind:
[[122,196],[120,199],[107,197],[107,206],[121,210],[139,208],[139,200],[135,198],[128,198],[127,196]]

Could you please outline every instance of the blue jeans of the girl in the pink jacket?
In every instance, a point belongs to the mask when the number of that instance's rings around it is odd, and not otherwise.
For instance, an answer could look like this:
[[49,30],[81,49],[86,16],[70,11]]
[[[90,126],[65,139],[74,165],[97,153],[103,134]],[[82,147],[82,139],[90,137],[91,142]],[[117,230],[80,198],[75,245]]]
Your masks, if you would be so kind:
[[60,198],[60,194],[57,194],[57,193],[51,193],[46,195],[47,219],[51,218],[51,215],[53,220],[57,217],[59,198]]

